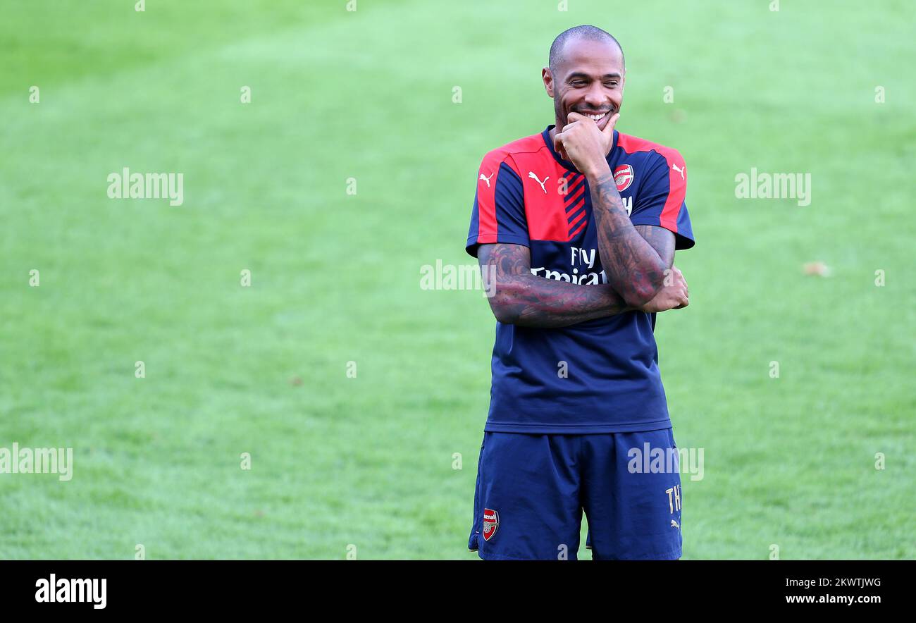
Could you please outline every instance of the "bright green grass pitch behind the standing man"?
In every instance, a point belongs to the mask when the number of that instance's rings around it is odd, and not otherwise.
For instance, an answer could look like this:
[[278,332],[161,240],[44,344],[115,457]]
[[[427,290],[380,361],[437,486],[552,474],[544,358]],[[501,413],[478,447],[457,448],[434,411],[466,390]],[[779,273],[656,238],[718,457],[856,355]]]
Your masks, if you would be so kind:
[[[691,306],[657,327],[705,456],[684,558],[916,557],[908,3],[345,4],[4,3],[0,447],[73,476],[0,474],[0,558],[475,559],[495,321],[420,267],[473,263],[480,159],[552,123],[582,23],[626,50],[617,127],[691,170]],[[124,167],[184,203],[108,199]],[[752,167],[811,205],[736,199]]]

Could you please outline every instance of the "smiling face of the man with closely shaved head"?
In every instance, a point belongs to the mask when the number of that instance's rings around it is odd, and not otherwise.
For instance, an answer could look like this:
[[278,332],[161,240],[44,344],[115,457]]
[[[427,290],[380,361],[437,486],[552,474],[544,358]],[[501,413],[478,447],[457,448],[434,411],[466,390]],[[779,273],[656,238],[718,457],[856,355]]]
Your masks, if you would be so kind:
[[570,113],[600,115],[603,130],[624,99],[624,60],[611,42],[575,38],[567,41],[562,60],[541,72],[544,88],[553,98],[557,129],[566,126]]

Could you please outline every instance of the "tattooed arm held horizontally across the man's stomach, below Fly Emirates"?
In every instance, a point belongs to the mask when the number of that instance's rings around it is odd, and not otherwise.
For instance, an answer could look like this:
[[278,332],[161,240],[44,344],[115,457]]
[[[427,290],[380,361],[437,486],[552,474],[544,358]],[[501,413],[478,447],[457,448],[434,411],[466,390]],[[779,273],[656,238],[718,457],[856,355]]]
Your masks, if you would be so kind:
[[609,285],[583,286],[532,275],[527,246],[482,245],[477,258],[499,322],[564,327],[631,309]]

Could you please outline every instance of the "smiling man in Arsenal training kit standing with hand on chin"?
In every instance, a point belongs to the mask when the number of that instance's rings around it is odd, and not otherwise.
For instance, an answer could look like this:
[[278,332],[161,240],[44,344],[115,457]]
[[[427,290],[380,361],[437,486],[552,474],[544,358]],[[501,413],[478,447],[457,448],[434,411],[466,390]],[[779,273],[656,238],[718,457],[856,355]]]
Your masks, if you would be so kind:
[[[486,154],[466,249],[496,315],[492,389],[468,547],[569,559],[582,513],[595,559],[681,557],[678,470],[653,330],[688,304],[693,246],[681,155],[615,125],[620,44],[570,28],[542,71],[555,125]],[[651,465],[658,465],[659,462]]]

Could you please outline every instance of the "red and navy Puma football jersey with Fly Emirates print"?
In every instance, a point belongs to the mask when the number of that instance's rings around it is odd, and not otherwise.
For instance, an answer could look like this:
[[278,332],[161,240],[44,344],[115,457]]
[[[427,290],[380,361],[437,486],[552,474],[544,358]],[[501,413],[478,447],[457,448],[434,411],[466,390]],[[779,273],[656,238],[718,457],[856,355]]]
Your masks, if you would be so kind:
[[[490,243],[525,245],[531,273],[606,283],[585,177],[553,148],[548,126],[486,154],[477,173],[467,252]],[[693,246],[681,154],[614,132],[607,155],[635,225],[674,232]],[[626,312],[568,327],[496,322],[492,432],[637,432],[671,426],[653,330],[655,314]]]

